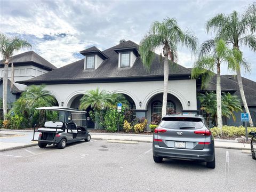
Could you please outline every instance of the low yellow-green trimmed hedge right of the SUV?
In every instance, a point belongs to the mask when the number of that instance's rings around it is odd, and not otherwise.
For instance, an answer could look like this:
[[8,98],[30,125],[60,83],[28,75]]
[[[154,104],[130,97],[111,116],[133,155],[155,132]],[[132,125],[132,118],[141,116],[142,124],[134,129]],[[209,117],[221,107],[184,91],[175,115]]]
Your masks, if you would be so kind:
[[[256,132],[256,127],[247,127],[248,129],[248,134],[251,131],[255,131]],[[221,131],[220,128],[218,127],[213,127],[210,129],[213,136],[221,136]],[[245,127],[244,126],[227,126],[224,125],[222,126],[222,136],[223,137],[241,137],[241,136],[245,136]]]

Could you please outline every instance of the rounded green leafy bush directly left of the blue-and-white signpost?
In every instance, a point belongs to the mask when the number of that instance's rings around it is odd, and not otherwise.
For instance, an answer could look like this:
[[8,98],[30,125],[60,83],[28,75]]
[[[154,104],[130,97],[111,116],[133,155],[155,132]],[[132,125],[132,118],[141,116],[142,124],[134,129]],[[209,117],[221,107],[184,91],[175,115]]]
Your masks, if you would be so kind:
[[117,131],[117,126],[123,127],[124,115],[122,112],[117,112],[116,108],[109,108],[105,115],[105,126],[109,132]]

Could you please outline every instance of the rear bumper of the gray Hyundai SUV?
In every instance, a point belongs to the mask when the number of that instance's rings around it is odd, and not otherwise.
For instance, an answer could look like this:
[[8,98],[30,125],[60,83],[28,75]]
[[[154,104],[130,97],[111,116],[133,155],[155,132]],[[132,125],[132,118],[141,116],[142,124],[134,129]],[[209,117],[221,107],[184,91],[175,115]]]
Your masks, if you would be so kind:
[[153,155],[156,157],[189,159],[205,162],[213,161],[215,156],[214,146],[208,146],[202,150],[178,149],[159,147],[157,142],[153,142]]

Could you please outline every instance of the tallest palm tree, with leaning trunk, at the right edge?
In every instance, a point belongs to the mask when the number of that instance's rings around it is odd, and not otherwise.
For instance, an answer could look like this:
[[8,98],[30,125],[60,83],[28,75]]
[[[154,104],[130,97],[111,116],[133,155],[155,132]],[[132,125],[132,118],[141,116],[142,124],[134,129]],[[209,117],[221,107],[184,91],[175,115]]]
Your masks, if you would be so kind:
[[[229,15],[217,14],[215,17],[207,21],[206,32],[210,33],[210,31],[213,31],[217,33],[218,38],[222,38],[228,44],[233,45],[233,50],[235,52],[240,52],[239,46],[241,45],[245,45],[252,51],[256,52],[255,23],[256,3],[254,2],[249,5],[242,15],[238,15],[236,11],[233,11],[233,13],[230,13]],[[250,67],[246,65],[245,62],[241,61],[235,70],[244,108],[246,113],[249,114],[250,126],[253,127],[252,118],[244,95],[241,67],[243,67],[245,71],[250,71]]]

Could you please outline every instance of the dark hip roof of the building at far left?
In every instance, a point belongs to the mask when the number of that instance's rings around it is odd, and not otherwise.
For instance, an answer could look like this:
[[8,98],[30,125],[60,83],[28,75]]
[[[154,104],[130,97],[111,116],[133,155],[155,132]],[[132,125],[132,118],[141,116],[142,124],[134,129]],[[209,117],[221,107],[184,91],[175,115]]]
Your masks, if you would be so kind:
[[[40,55],[38,55],[34,51],[28,51],[25,53],[14,55],[12,57],[12,61],[14,66],[17,66],[17,65],[25,66],[27,65],[27,63],[33,62],[36,64],[37,67],[44,68],[46,70],[57,69],[57,67],[52,65],[52,63],[50,63],[49,61],[46,61],[44,58],[42,58]],[[0,67],[4,67],[3,60],[0,62],[0,64],[1,64]]]

